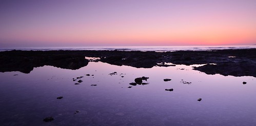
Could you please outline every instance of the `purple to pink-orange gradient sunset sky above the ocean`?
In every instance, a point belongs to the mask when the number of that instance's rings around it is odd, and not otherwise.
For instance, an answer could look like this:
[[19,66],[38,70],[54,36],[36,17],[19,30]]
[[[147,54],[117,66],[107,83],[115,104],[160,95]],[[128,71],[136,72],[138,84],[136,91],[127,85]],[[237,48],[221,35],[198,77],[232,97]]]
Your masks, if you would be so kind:
[[256,44],[255,0],[0,1],[0,47]]

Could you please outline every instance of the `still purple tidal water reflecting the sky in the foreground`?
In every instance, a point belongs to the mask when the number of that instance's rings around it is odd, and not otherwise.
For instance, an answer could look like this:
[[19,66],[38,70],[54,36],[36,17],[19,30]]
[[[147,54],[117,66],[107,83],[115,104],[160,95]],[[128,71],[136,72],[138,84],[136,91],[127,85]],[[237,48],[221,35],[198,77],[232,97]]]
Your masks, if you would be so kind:
[[[112,72],[117,74],[109,75]],[[206,75],[183,65],[137,69],[103,62],[89,62],[79,70],[44,66],[34,68],[30,74],[6,72],[0,76],[3,125],[256,123],[254,77]],[[77,80],[72,78],[80,76],[84,76],[83,82],[74,85]],[[142,76],[149,77],[149,85],[127,88],[134,78]],[[172,80],[165,82],[165,78]],[[243,85],[243,81],[247,84]],[[170,88],[172,92],[165,91]],[[56,99],[58,96],[64,98]],[[80,112],[74,114],[76,110]],[[43,122],[48,116],[53,116],[54,121]]]

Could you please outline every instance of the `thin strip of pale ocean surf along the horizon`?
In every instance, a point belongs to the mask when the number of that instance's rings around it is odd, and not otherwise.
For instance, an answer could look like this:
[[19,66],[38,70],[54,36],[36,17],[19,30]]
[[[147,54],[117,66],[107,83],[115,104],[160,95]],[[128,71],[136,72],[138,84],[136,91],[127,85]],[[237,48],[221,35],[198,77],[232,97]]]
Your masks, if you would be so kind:
[[0,48],[0,51],[10,50],[33,50],[33,51],[49,51],[49,50],[120,50],[120,51],[156,51],[169,52],[180,50],[192,51],[210,51],[224,49],[252,49],[253,46],[124,46],[124,47],[24,47],[24,48]]

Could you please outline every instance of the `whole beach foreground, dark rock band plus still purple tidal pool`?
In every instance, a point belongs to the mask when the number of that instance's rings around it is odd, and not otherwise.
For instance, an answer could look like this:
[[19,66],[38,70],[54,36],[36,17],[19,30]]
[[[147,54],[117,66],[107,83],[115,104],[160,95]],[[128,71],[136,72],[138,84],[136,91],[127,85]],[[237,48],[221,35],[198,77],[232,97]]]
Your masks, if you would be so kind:
[[255,51],[3,51],[0,123],[254,125]]

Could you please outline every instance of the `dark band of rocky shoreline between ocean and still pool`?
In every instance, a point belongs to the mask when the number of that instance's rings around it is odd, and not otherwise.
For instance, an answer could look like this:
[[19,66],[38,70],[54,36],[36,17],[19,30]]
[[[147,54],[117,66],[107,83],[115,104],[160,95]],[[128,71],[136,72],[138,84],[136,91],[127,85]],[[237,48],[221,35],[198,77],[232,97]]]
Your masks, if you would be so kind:
[[[175,65],[206,64],[194,70],[206,74],[256,77],[256,49],[141,52],[141,51],[3,51],[0,52],[0,72],[30,73],[45,65],[63,69],[80,69],[88,65],[85,57],[100,57],[111,65],[135,68],[169,67]],[[91,60],[90,60],[91,61]],[[174,65],[166,64],[172,63]]]

